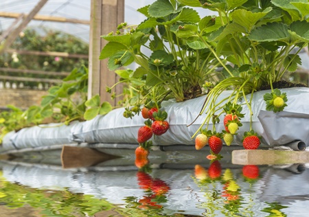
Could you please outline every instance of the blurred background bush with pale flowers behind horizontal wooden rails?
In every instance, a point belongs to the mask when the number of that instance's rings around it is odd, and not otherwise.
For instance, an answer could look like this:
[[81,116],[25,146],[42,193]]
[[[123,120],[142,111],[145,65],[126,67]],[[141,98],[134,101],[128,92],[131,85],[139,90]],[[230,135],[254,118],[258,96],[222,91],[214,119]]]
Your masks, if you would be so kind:
[[[25,78],[62,79],[63,75],[51,72],[69,72],[80,65],[88,66],[88,58],[67,58],[53,55],[19,54],[23,52],[61,52],[67,54],[89,53],[89,44],[75,36],[64,32],[49,30],[47,28],[27,28],[19,34],[12,46],[12,52],[5,52],[0,56],[0,68],[5,69],[31,69],[46,71],[46,73],[21,73],[10,70],[1,70],[1,76],[16,76]],[[14,52],[16,50],[16,52]],[[49,54],[51,54],[49,53]],[[5,80],[3,80],[5,82]],[[33,89],[38,82],[23,81],[23,88]],[[45,85],[43,84],[43,87]]]

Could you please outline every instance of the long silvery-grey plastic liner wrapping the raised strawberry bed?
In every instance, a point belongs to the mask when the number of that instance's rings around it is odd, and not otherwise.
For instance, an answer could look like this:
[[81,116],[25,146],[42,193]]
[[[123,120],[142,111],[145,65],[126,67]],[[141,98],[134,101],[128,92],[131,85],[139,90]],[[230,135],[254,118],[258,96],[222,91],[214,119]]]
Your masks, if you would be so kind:
[[[288,106],[284,112],[273,113],[264,111],[266,104],[263,95],[270,91],[258,91],[252,101],[252,127],[255,132],[262,136],[262,146],[273,147],[289,144],[292,141],[304,141],[309,144],[309,89],[290,88],[282,89],[287,93]],[[231,91],[224,91],[217,99],[217,102],[227,98]],[[152,137],[155,145],[194,145],[192,135],[198,130],[205,119],[205,114],[198,116],[206,96],[187,100],[185,102],[174,102],[169,100],[162,103],[162,109],[168,113],[170,129],[161,136]],[[250,96],[248,95],[249,99]],[[224,101],[224,100],[223,100]],[[242,136],[250,128],[250,113],[244,100],[242,107],[242,126],[232,145],[240,145]],[[222,102],[222,105],[225,102]],[[98,115],[87,122],[73,122],[69,126],[51,127],[34,126],[24,128],[17,133],[9,133],[3,139],[3,146],[0,152],[10,149],[21,149],[38,146],[51,146],[55,144],[69,144],[76,142],[102,143],[102,144],[137,144],[137,131],[144,126],[145,119],[141,115],[135,115],[132,119],[123,116],[124,108],[115,109],[106,115]],[[220,123],[216,124],[216,131],[224,129],[223,118],[220,115]],[[196,117],[198,117],[196,119]],[[194,122],[194,119],[196,121]],[[187,126],[191,124],[191,126]],[[205,126],[204,126],[205,127]],[[208,129],[212,129],[209,124]]]

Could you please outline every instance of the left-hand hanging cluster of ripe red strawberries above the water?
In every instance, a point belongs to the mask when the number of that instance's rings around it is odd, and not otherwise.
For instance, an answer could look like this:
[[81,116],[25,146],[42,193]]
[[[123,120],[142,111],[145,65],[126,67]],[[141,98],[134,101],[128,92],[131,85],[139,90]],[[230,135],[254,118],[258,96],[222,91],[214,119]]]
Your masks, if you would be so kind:
[[149,163],[148,155],[152,146],[152,141],[149,139],[152,135],[162,135],[170,128],[170,124],[166,121],[168,117],[166,111],[161,111],[157,107],[151,109],[144,107],[141,109],[141,115],[146,121],[144,122],[145,126],[141,126],[137,133],[139,147],[135,150],[135,165],[138,168]]

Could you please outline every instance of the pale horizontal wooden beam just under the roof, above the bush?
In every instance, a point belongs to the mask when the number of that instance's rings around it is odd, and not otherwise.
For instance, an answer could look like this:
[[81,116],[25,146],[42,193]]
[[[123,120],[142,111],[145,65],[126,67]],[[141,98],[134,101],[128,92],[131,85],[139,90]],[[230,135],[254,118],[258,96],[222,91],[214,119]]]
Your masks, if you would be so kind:
[[[20,13],[14,13],[14,12],[0,12],[0,16],[2,17],[8,17],[8,18],[17,18],[21,15]],[[27,14],[25,14],[27,16]],[[47,16],[47,15],[41,15],[41,14],[36,14],[33,17],[34,20],[36,21],[52,21],[52,22],[61,22],[61,23],[80,23],[84,25],[89,25],[90,21],[86,20],[80,20],[80,19],[71,19],[71,18],[66,18],[62,16]]]

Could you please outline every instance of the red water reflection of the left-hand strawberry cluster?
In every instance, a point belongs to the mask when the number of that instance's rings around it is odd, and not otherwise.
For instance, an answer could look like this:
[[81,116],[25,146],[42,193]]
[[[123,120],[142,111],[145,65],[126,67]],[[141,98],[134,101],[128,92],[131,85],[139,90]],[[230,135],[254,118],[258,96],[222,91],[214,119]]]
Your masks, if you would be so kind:
[[137,172],[137,182],[141,189],[144,189],[147,194],[141,198],[138,202],[140,203],[140,209],[161,209],[162,205],[158,203],[165,203],[166,196],[170,187],[165,181],[161,179],[153,179],[150,174],[144,171]]

